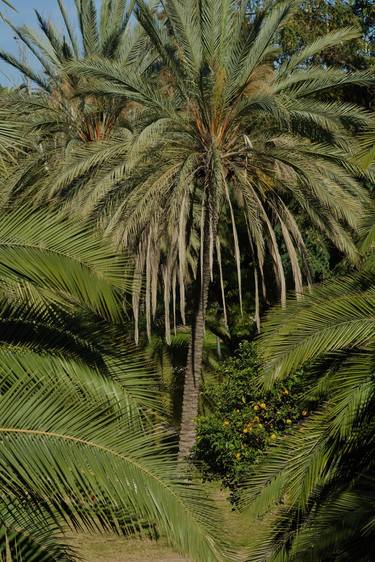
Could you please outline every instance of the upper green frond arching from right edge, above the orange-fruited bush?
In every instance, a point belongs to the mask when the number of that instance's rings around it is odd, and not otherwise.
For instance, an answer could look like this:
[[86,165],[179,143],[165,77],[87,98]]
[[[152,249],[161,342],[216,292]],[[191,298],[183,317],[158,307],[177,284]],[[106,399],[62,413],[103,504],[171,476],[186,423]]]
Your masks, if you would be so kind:
[[[261,347],[269,381],[326,353],[361,347],[375,333],[374,275],[337,280],[276,310],[264,324]],[[272,373],[272,375],[271,375]]]

